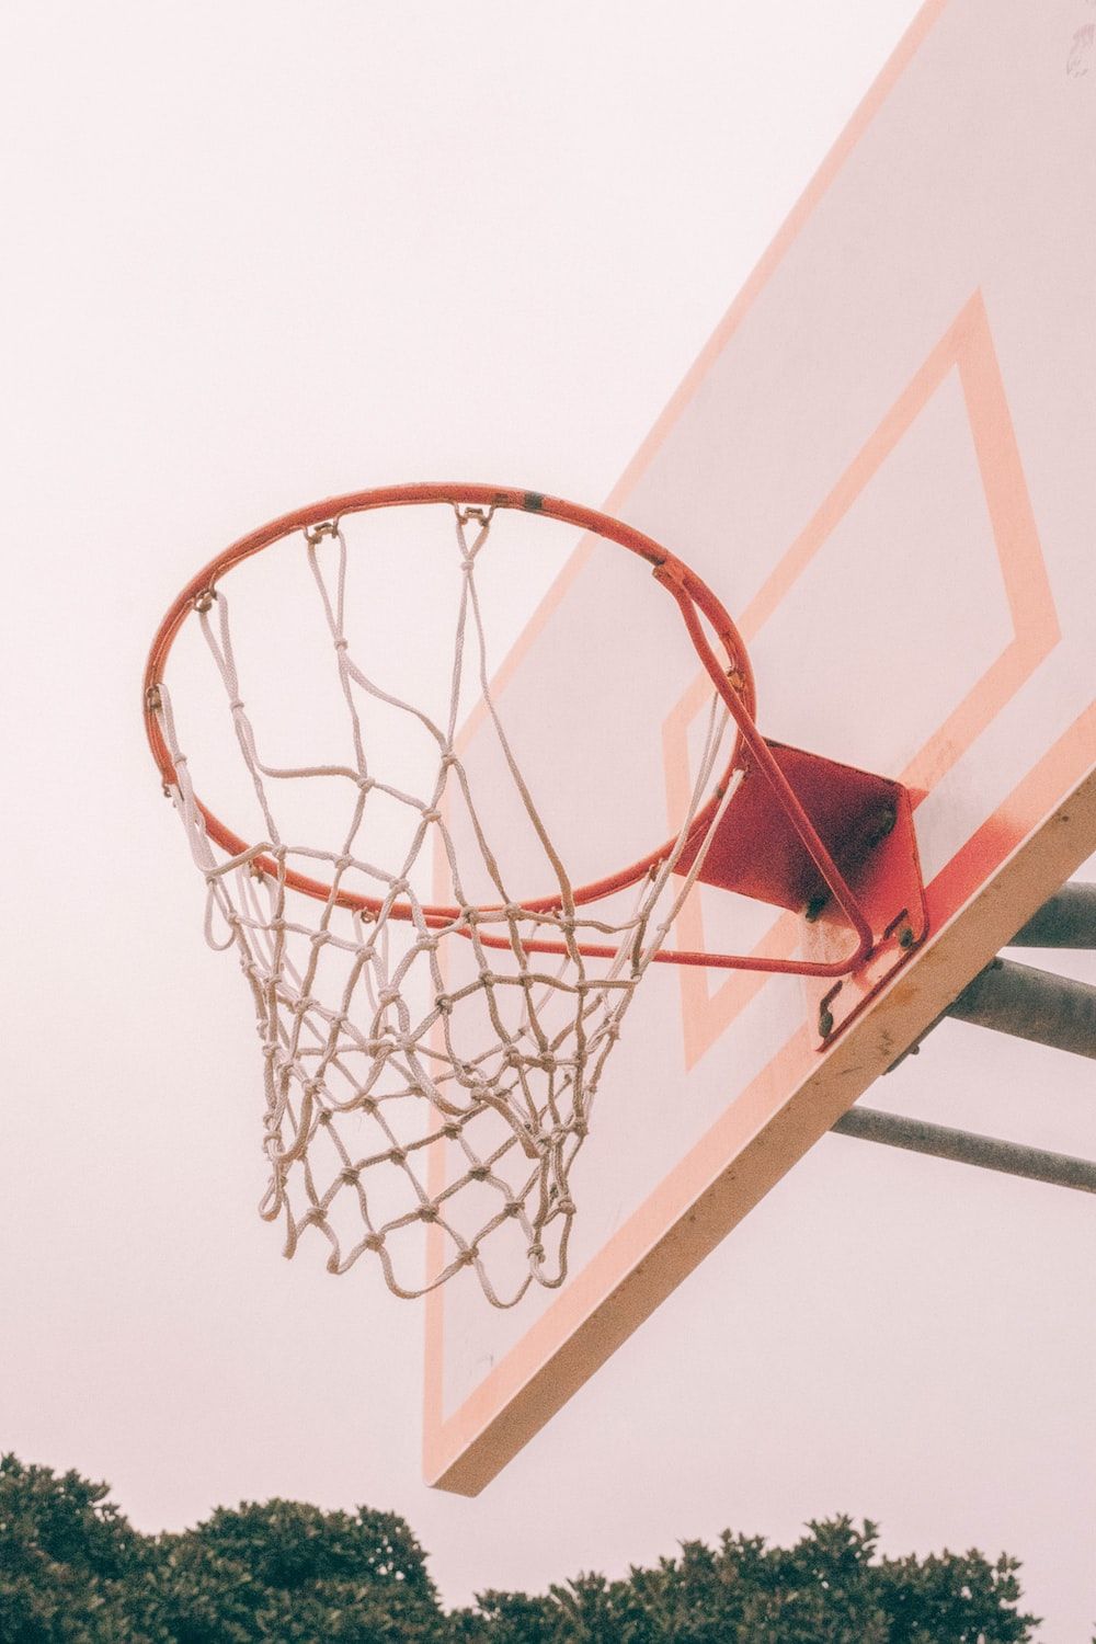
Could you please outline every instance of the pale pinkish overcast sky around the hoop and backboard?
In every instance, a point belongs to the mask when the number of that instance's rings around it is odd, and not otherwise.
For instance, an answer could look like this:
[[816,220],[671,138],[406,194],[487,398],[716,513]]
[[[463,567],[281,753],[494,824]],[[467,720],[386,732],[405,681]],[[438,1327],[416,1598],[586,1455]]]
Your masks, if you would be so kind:
[[[596,505],[915,10],[5,7],[0,1447],[145,1529],[393,1508],[452,1601],[848,1511],[1014,1552],[1040,1637],[1088,1636],[1093,1202],[840,1138],[481,1498],[426,1489],[419,1309],[255,1215],[250,1008],[138,713],[168,598],[284,508]],[[948,1024],[869,1100],[1091,1156],[1093,1097]]]

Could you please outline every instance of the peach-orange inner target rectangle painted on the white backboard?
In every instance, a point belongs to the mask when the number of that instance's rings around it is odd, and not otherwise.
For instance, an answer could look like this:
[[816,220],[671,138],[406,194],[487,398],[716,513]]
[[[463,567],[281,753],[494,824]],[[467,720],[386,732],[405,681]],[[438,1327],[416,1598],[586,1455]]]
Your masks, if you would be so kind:
[[[738,620],[743,640],[751,644],[953,370],[958,370],[963,390],[1001,580],[1012,618],[1012,638],[905,769],[884,773],[896,774],[910,789],[914,804],[919,804],[951,769],[1061,636],[981,291],[963,306]],[[711,684],[707,674],[700,672],[662,728],[670,819],[684,815],[688,806],[692,776],[685,738],[690,723],[707,707],[710,697]],[[682,907],[675,929],[679,947],[700,952],[707,949],[698,896],[692,896]],[[790,957],[797,942],[799,921],[794,914],[784,914],[774,919],[756,952],[766,957]],[[759,972],[741,970],[728,972],[725,978],[716,980],[708,970],[682,967],[682,1034],[687,1069],[711,1049],[766,980]]]

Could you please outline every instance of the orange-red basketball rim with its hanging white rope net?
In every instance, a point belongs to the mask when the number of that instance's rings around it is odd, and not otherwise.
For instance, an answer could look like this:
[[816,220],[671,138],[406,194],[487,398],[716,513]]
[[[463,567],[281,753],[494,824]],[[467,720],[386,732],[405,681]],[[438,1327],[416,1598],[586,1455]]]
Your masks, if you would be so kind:
[[[343,523],[376,510],[431,505],[445,510],[455,526],[462,575],[445,720],[373,679],[355,659],[347,631]],[[705,746],[677,832],[629,866],[583,884],[572,883],[537,810],[486,674],[477,562],[496,516],[506,511],[562,521],[646,561],[679,607],[713,687]],[[352,748],[345,764],[276,768],[261,755],[243,700],[228,572],[294,536],[302,541],[334,649]],[[261,838],[243,838],[199,797],[181,745],[164,671],[191,616],[228,700],[263,815]],[[547,891],[521,886],[514,894],[472,792],[457,737],[467,643],[480,659],[477,684],[500,768],[552,881]],[[378,700],[409,715],[432,738],[437,760],[427,792],[398,789],[375,771],[360,704]],[[534,1281],[559,1286],[575,1215],[572,1166],[606,1057],[647,967],[753,968],[828,981],[864,965],[877,945],[873,909],[861,906],[835,860],[838,834],[823,842],[789,783],[782,756],[789,750],[761,737],[754,712],[741,635],[700,577],[634,528],[536,492],[408,485],[337,496],[242,538],[191,580],[153,641],[145,722],[164,791],[205,880],[207,939],[237,950],[255,1003],[271,1167],[261,1213],[284,1217],[286,1254],[315,1226],[330,1245],[330,1271],[342,1272],[371,1251],[399,1295],[419,1295],[463,1268],[477,1272],[495,1305],[513,1305]],[[317,774],[352,794],[350,824],[337,848],[283,837],[276,819],[274,787]],[[812,896],[830,899],[851,934],[848,954],[833,957],[830,947],[815,958],[774,958],[667,945],[697,880],[738,884],[728,842],[735,838],[733,799],[743,784],[766,796],[764,820],[754,801],[743,817],[784,842],[782,866],[771,870],[779,884],[751,894],[790,896],[792,906]],[[408,850],[389,866],[378,866],[360,843],[378,794],[406,807],[411,825]],[[493,886],[486,899],[465,894],[465,865],[447,815],[452,804],[467,812],[465,845],[472,842],[477,870]],[[447,861],[452,901],[424,901],[411,884],[417,858],[431,848]],[[741,842],[733,848],[741,852]],[[756,860],[766,853],[751,840],[744,848],[756,880]],[[623,893],[629,893],[626,907]],[[375,1184],[385,1180],[388,1189],[378,1190]],[[403,1266],[403,1246],[422,1225],[434,1230],[435,1253],[426,1281],[406,1277]]]

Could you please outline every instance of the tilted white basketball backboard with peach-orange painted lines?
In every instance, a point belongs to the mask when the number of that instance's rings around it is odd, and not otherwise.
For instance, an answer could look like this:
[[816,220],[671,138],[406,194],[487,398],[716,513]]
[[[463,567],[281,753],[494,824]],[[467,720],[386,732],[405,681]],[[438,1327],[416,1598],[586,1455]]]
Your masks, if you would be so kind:
[[[800,978],[652,967],[567,1286],[427,1300],[434,1485],[481,1489],[1096,848],[1089,44],[1080,0],[930,0],[606,505],[726,603],[767,737],[909,786],[928,935],[822,1046]],[[592,871],[667,835],[697,758],[710,689],[656,607],[580,543],[496,677]],[[675,939],[802,934],[702,886]]]

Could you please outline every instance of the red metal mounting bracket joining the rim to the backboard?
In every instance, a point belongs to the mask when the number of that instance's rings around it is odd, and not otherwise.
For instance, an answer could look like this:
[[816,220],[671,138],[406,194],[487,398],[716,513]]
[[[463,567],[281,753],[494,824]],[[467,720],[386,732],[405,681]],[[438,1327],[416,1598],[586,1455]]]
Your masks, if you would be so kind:
[[[810,1026],[827,1049],[928,934],[909,789],[766,738],[782,776],[845,875],[873,945],[848,977],[805,977]],[[687,873],[697,847],[677,865]],[[802,958],[838,962],[850,924],[804,847],[764,771],[751,763],[708,847],[698,878],[802,919]]]

